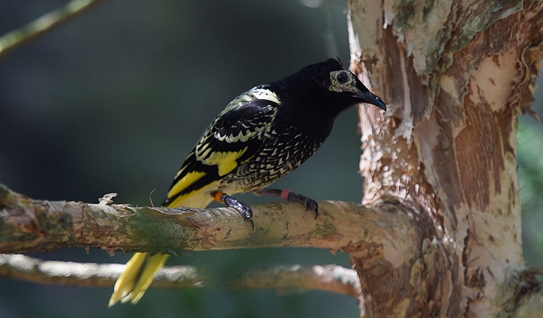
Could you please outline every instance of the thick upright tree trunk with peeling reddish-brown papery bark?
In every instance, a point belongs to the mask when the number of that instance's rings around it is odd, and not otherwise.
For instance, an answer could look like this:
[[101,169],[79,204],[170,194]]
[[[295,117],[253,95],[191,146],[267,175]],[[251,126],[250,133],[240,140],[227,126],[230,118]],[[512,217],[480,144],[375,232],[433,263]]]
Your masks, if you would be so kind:
[[348,24],[351,68],[389,107],[360,107],[362,203],[407,208],[394,213],[418,235],[401,261],[348,251],[362,315],[515,316],[517,119],[534,100],[543,1],[351,0]]

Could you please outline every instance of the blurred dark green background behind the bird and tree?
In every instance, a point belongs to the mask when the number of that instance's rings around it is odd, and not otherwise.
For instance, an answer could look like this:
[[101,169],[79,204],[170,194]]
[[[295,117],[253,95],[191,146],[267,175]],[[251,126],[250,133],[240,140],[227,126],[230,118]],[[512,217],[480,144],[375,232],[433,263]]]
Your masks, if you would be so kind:
[[[65,3],[0,0],[0,34]],[[349,61],[344,1],[107,1],[0,61],[0,182],[36,199],[98,202],[117,192],[115,203],[140,206],[149,205],[156,189],[158,203],[205,126],[232,98],[333,55]],[[542,101],[535,102],[540,116]],[[525,258],[543,265],[543,129],[531,118],[521,121]],[[353,108],[341,114],[321,150],[277,186],[319,200],[360,201],[357,132]],[[33,256],[129,258],[99,249]],[[343,253],[295,248],[193,252],[168,261],[205,266],[217,278],[262,266],[329,263],[350,266]],[[323,292],[151,290],[137,306],[108,310],[110,293],[0,278],[0,317],[358,317],[353,298]]]

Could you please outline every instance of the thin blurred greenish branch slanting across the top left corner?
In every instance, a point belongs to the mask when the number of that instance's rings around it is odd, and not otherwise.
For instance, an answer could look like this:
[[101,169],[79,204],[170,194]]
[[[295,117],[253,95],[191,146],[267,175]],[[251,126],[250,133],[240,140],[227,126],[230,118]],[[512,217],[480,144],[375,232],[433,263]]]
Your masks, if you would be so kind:
[[57,8],[21,28],[2,35],[0,37],[0,59],[6,57],[13,49],[38,39],[102,2],[103,0],[72,0],[66,6]]

